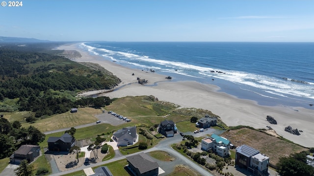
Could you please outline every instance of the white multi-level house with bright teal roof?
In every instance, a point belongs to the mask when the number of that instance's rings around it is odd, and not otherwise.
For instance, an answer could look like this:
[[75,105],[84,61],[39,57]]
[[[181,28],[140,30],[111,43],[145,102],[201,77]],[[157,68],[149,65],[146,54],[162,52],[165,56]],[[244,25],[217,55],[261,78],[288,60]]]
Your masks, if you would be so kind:
[[210,137],[202,139],[202,150],[209,151],[212,150],[221,157],[229,155],[231,142],[221,136],[212,134]]

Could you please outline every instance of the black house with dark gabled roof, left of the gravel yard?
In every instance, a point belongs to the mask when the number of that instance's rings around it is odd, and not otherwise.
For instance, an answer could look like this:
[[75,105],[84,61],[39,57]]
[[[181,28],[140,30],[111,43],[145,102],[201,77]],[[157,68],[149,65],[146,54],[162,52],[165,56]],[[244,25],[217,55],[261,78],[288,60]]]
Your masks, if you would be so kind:
[[75,138],[69,133],[64,133],[61,137],[49,137],[47,142],[49,151],[69,151],[75,146]]

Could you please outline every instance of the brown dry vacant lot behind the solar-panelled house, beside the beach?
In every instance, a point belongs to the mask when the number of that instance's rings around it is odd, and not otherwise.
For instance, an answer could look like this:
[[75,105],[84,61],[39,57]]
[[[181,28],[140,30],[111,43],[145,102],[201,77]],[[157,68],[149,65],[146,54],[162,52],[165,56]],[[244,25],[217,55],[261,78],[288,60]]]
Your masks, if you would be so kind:
[[248,145],[269,156],[269,162],[276,164],[280,157],[308,149],[270,136],[263,132],[241,128],[224,132],[221,136],[229,139],[235,146]]

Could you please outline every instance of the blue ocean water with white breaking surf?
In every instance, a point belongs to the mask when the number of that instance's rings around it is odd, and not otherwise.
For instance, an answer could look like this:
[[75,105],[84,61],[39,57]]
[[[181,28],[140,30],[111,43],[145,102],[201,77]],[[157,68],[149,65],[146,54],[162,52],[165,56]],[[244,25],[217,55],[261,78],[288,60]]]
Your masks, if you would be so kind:
[[215,84],[261,105],[314,109],[314,43],[85,42],[80,47],[173,81]]

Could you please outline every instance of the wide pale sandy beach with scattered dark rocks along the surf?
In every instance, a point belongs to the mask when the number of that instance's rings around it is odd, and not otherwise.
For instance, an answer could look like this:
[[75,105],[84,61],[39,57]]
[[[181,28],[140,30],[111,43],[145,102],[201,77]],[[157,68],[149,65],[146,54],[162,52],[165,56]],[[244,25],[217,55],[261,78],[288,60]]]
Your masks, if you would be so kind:
[[[194,107],[210,110],[218,115],[227,126],[252,126],[254,128],[266,128],[271,126],[277,134],[300,144],[304,147],[314,147],[314,110],[303,107],[291,106],[261,106],[255,101],[237,99],[223,92],[217,92],[220,88],[215,85],[201,84],[196,81],[168,80],[167,75],[159,75],[146,70],[135,70],[120,66],[114,62],[106,61],[98,55],[91,55],[80,50],[79,44],[63,45],[58,50],[78,50],[81,57],[70,58],[77,62],[98,63],[106,70],[121,79],[119,89],[103,93],[110,98],[126,96],[153,95],[160,101],[169,101],[181,107]],[[132,75],[134,74],[134,75]],[[137,83],[137,77],[148,80],[141,85]],[[101,93],[96,91],[93,93]],[[277,121],[272,125],[266,121],[270,115]],[[285,131],[285,127],[291,126],[301,135],[293,135]]]

